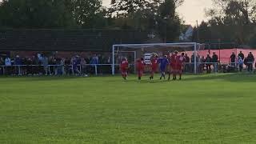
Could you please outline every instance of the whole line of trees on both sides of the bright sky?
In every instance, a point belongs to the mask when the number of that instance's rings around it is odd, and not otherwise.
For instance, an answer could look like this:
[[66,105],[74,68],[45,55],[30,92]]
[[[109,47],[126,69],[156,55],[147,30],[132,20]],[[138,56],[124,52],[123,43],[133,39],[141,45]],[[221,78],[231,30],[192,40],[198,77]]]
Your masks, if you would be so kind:
[[[15,29],[130,29],[173,42],[184,30],[177,13],[184,0],[3,0],[0,26]],[[193,42],[256,46],[256,1],[212,0],[206,22],[194,27]]]

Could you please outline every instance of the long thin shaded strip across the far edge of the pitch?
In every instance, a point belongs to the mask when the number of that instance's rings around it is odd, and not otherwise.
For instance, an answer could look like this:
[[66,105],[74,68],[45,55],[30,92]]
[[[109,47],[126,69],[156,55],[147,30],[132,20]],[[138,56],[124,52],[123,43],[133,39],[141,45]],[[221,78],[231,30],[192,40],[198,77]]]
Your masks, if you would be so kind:
[[[112,77],[112,78],[111,78]],[[17,78],[17,81],[61,81],[61,80],[67,80],[67,79],[81,79],[86,77],[77,77],[77,76],[1,76],[1,78]],[[107,79],[101,79],[104,82],[122,82],[122,78],[119,78],[119,76],[110,76],[110,75],[104,75],[104,76],[98,76],[98,77],[88,77],[88,78],[107,78]],[[201,74],[201,75],[185,75],[182,78],[182,81],[173,81],[173,80],[159,80],[157,77],[154,80],[149,80],[146,76],[143,77],[141,81],[138,81],[137,78],[134,78],[134,75],[131,75],[131,78],[127,81],[123,82],[134,82],[134,83],[163,83],[163,82],[190,82],[190,81],[210,81],[210,80],[222,80],[222,81],[228,81],[228,82],[256,82],[256,74]],[[100,80],[100,79],[98,79]]]

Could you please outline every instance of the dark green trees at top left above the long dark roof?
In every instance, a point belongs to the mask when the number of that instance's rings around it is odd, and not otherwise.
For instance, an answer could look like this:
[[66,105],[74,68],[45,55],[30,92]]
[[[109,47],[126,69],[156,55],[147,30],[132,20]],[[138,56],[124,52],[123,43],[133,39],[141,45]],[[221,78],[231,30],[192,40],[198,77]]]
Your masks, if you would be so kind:
[[94,28],[106,25],[105,13],[101,0],[5,0],[0,22],[11,28]]

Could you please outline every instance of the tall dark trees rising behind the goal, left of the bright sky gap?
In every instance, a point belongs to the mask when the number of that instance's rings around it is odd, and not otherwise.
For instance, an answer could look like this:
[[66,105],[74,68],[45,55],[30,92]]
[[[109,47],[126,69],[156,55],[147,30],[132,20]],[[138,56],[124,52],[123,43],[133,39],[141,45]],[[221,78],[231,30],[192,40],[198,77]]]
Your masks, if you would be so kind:
[[181,0],[113,0],[109,12],[118,22],[117,26],[154,32],[163,42],[174,41],[180,34],[182,23],[176,8],[182,2]]

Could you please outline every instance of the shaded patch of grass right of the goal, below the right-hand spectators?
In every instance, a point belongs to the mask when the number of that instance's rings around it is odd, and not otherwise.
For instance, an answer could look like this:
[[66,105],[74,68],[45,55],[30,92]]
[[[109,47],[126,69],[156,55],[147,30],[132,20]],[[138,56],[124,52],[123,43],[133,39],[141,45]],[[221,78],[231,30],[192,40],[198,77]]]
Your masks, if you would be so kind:
[[256,82],[256,74],[203,74],[185,78],[184,81],[223,80],[229,82]]

